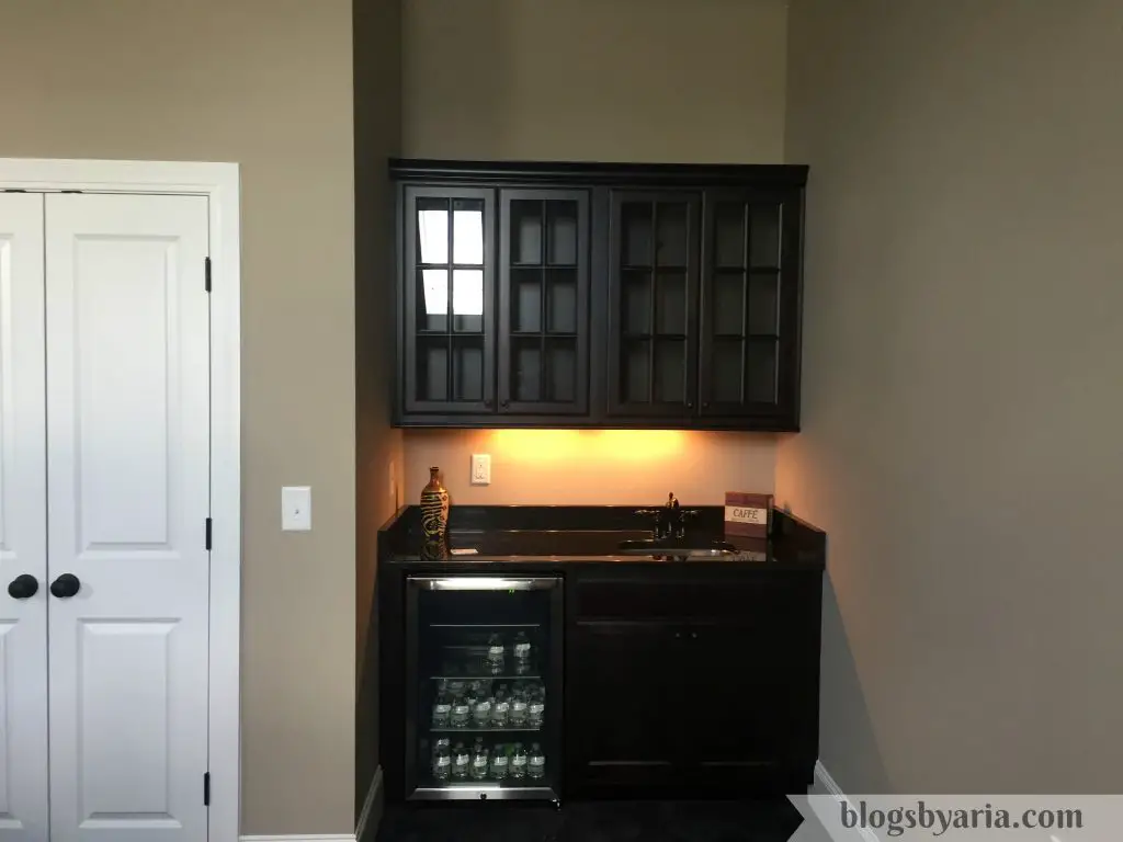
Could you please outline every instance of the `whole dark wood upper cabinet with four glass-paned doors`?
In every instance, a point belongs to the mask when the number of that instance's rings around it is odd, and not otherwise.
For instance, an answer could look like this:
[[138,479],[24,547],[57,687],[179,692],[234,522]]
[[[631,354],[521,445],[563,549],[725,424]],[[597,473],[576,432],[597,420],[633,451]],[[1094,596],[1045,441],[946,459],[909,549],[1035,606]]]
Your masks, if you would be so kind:
[[403,427],[797,430],[797,165],[392,159]]

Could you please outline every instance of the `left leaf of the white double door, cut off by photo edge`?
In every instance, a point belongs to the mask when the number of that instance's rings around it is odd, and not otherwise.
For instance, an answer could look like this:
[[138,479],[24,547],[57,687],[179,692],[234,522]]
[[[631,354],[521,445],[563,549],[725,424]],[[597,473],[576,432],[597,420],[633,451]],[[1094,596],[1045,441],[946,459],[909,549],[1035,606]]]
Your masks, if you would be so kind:
[[43,368],[43,196],[0,193],[0,842],[47,842]]

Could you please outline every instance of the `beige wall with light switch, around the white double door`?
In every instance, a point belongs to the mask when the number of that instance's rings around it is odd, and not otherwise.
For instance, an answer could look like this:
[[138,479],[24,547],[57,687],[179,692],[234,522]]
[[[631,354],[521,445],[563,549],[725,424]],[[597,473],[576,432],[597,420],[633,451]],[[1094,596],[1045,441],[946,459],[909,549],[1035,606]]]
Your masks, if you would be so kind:
[[0,155],[241,164],[243,831],[350,832],[350,3],[7,0],[0,79]]

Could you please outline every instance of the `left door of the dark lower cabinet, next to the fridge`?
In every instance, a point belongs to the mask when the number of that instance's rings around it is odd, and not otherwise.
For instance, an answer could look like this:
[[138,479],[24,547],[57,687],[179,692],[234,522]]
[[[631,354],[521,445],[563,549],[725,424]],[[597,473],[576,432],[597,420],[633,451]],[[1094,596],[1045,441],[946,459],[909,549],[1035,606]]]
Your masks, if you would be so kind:
[[566,740],[576,787],[659,786],[674,779],[669,729],[682,676],[674,630],[659,622],[570,626]]

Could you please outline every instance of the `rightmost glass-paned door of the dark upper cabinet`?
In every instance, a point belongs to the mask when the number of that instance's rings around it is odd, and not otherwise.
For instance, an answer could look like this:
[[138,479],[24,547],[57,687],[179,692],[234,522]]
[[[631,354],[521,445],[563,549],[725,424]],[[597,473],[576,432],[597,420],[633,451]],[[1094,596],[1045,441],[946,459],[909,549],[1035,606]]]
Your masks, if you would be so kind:
[[701,414],[794,423],[800,365],[798,193],[706,191]]

